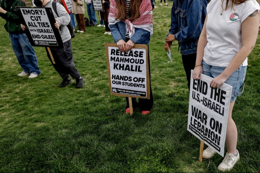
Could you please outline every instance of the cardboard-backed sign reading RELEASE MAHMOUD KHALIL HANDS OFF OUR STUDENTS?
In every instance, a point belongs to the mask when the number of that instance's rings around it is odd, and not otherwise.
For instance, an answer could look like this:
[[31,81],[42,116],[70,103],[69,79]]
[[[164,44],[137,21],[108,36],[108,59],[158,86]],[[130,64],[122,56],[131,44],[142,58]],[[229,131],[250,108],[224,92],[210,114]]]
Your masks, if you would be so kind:
[[111,95],[150,97],[147,45],[136,44],[121,52],[116,44],[105,44]]

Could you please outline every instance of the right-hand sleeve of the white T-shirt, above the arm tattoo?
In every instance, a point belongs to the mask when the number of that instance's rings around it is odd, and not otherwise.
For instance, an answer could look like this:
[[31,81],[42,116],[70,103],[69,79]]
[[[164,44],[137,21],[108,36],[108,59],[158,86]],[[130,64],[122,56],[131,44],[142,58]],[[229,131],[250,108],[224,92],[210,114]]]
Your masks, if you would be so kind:
[[260,6],[259,3],[255,0],[249,0],[244,2],[245,6],[244,8],[241,8],[242,10],[242,15],[241,15],[241,19],[240,22],[242,23],[250,14],[252,14],[253,12],[255,12],[256,10],[260,10]]

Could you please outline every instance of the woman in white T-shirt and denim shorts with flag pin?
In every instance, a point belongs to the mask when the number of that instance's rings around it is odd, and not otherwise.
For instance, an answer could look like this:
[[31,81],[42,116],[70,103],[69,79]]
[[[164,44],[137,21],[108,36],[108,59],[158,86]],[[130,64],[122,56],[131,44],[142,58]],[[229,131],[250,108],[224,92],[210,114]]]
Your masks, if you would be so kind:
[[[232,86],[226,129],[227,153],[218,166],[221,171],[231,170],[239,159],[237,127],[232,119],[232,110],[237,96],[244,91],[247,56],[258,35],[259,10],[258,0],[211,0],[207,6],[206,25],[198,41],[192,77],[200,79],[203,73],[213,78],[210,82],[213,88],[222,83]],[[203,151],[203,157],[211,158],[215,153],[208,147]]]

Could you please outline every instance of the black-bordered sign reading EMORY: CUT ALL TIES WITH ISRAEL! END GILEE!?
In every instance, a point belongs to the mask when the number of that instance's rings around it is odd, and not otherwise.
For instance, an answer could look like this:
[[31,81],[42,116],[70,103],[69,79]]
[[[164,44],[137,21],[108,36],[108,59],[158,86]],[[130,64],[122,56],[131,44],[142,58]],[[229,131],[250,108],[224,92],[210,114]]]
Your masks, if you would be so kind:
[[51,8],[21,7],[20,10],[32,46],[63,47]]

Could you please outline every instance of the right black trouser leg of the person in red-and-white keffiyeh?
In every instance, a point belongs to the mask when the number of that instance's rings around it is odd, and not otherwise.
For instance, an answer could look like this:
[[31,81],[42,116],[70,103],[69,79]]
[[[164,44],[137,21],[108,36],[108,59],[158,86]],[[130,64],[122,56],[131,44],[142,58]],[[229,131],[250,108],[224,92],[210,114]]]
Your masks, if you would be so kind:
[[148,68],[149,68],[149,78],[150,78],[150,99],[139,99],[139,108],[141,111],[150,111],[153,107],[153,92],[151,86],[151,72],[150,72],[150,55],[148,46]]

